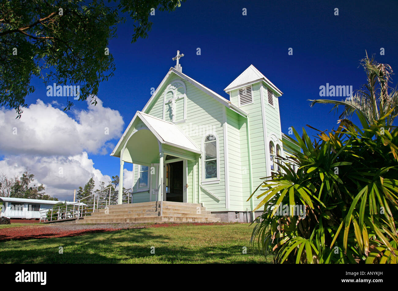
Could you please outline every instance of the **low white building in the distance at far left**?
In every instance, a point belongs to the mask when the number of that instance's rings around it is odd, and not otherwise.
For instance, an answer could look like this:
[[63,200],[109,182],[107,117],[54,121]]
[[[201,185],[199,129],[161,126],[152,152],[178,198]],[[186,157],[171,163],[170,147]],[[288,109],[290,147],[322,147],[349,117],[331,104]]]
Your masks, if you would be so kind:
[[[0,197],[0,202],[3,203],[0,206],[1,217],[39,219],[40,210],[51,208],[62,201]],[[66,204],[73,204],[73,202],[66,202]]]

